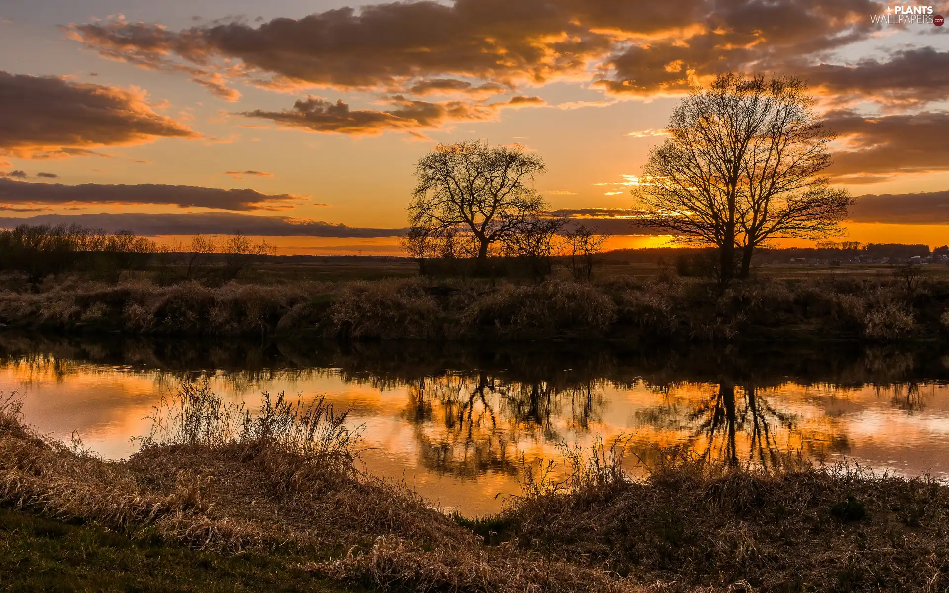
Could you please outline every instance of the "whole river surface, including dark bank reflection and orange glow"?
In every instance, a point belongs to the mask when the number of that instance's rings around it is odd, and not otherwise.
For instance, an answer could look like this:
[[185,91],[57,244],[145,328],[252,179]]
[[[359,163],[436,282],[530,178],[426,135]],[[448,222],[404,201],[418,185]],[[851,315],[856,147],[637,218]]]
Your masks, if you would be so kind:
[[[181,381],[255,405],[286,392],[350,409],[362,462],[466,514],[520,491],[523,462],[623,435],[632,471],[663,448],[740,464],[783,454],[949,478],[949,356],[932,346],[163,342],[0,334],[0,391],[28,423],[134,454]],[[642,461],[640,461],[642,460]]]

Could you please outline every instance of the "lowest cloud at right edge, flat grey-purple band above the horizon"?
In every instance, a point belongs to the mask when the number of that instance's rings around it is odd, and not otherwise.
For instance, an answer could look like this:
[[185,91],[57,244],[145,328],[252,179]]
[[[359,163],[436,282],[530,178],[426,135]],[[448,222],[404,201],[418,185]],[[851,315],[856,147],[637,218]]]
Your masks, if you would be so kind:
[[949,224],[949,191],[861,195],[850,207],[849,219],[854,222],[946,225]]

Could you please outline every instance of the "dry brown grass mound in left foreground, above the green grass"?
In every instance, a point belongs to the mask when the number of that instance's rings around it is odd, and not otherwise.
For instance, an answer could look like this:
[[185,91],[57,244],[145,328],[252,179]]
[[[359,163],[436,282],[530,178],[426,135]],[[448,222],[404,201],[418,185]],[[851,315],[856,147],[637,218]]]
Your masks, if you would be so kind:
[[309,554],[309,570],[383,589],[635,590],[483,548],[413,492],[357,471],[358,434],[323,400],[267,398],[251,415],[188,386],[158,406],[142,451],[121,462],[33,435],[18,415],[16,398],[0,403],[0,506],[228,554]]

